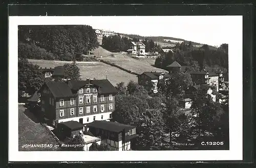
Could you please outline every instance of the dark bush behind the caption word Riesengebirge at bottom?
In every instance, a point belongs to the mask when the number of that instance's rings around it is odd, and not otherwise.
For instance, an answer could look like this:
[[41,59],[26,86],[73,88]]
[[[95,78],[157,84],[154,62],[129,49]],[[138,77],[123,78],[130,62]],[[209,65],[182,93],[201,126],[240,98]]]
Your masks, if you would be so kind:
[[67,144],[71,146],[67,148],[67,150],[69,151],[83,151],[83,145],[85,144],[85,142],[80,135],[75,135],[69,139]]

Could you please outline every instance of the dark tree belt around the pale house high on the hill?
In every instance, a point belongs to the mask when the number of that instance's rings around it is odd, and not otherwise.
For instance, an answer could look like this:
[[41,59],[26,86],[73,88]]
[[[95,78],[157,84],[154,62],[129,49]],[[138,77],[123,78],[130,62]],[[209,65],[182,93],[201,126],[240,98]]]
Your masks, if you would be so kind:
[[[139,38],[129,39],[127,37],[120,37],[119,35],[116,36],[109,36],[102,38],[102,47],[106,50],[112,52],[120,52],[120,51],[127,51],[127,49],[131,49],[131,42],[138,42]],[[160,46],[157,45],[153,40],[144,39],[141,41],[145,44],[145,52],[154,52],[159,51]]]

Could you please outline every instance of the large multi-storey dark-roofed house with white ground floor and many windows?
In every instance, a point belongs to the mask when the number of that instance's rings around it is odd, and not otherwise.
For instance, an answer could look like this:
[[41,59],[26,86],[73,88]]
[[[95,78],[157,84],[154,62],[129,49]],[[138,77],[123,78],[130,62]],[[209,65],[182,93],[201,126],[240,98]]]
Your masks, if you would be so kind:
[[112,119],[116,93],[108,79],[49,81],[40,89],[41,112],[53,126]]

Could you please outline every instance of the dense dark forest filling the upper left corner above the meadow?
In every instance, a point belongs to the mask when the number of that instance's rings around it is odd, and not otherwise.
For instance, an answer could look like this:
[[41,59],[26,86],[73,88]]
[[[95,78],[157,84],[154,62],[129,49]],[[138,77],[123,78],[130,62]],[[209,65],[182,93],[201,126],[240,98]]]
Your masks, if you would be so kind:
[[22,25],[18,27],[18,57],[77,61],[99,46],[90,25]]

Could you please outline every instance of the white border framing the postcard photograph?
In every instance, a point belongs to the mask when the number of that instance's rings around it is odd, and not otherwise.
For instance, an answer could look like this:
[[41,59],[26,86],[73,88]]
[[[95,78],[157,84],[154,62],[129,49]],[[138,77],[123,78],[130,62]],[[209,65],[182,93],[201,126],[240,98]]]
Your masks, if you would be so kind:
[[[9,161],[185,161],[243,159],[243,16],[118,16],[118,17],[226,17],[229,49],[229,139],[230,150],[217,151],[18,151],[18,25],[83,25],[95,16],[9,17]],[[109,17],[109,16],[100,16]],[[218,23],[217,23],[218,24]],[[118,153],[118,154],[117,154]]]

